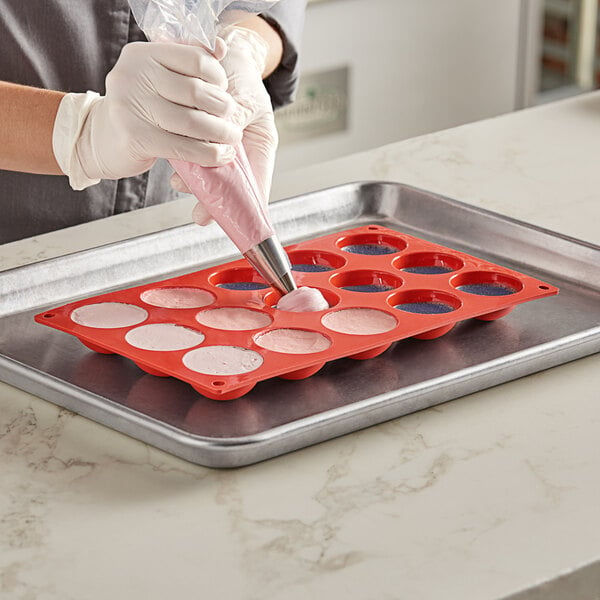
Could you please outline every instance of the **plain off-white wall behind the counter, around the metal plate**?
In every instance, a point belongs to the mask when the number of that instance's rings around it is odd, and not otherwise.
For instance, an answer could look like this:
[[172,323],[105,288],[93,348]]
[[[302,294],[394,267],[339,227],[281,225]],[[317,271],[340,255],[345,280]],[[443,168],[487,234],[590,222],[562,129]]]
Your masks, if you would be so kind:
[[309,4],[302,72],[350,67],[348,129],[284,140],[278,171],[513,110],[521,8],[521,0]]

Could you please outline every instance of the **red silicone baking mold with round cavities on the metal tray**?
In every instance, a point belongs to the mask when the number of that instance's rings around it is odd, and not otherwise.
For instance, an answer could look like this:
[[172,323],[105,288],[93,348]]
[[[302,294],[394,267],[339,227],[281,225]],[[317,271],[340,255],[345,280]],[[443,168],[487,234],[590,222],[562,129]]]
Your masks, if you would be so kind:
[[[323,292],[330,304],[328,310],[284,312],[274,308],[279,295],[272,288],[232,290],[219,287],[235,282],[264,284],[246,260],[241,259],[72,302],[46,310],[36,315],[35,320],[76,336],[97,352],[125,356],[152,375],[186,381],[208,398],[230,400],[246,394],[264,379],[309,377],[327,361],[342,357],[372,358],[398,340],[410,337],[433,339],[450,331],[459,321],[470,318],[494,320],[517,304],[558,293],[558,288],[539,279],[378,225],[294,244],[287,251],[292,265],[300,265],[303,269],[328,269],[294,271],[299,286],[315,287]],[[169,309],[152,306],[140,298],[146,290],[173,287],[200,288],[210,292],[214,301],[201,308]],[[356,291],[360,289],[382,291]],[[487,295],[489,293],[502,295]],[[139,306],[146,310],[148,317],[131,327],[115,329],[86,327],[71,320],[70,315],[76,308],[101,302]],[[401,308],[396,308],[398,306]],[[222,307],[261,311],[269,315],[272,322],[262,329],[224,331],[201,325],[195,318],[201,311]],[[385,333],[356,335],[338,333],[323,324],[322,319],[328,313],[348,308],[383,311],[396,320],[396,326]],[[439,310],[447,312],[437,312]],[[430,311],[434,311],[433,314]],[[153,323],[181,325],[201,332],[205,338],[193,348],[176,351],[142,350],[127,343],[125,335],[129,330]],[[285,354],[256,344],[258,335],[280,328],[318,332],[326,336],[331,345],[311,354]],[[213,345],[253,350],[261,355],[262,365],[249,373],[226,376],[198,373],[184,365],[183,357],[187,352]]]

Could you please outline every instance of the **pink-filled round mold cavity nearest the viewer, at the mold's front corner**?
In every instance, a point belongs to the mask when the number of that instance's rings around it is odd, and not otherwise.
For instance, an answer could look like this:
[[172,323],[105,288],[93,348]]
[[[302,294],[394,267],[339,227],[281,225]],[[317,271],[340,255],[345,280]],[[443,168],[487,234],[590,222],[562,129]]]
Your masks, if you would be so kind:
[[203,375],[242,375],[256,371],[263,357],[239,346],[202,346],[183,355],[183,364]]

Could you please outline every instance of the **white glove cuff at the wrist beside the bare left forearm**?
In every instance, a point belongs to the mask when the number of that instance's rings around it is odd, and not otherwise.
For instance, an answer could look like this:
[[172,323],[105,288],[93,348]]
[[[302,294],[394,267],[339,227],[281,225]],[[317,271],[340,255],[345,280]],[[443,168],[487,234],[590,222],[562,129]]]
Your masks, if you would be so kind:
[[88,177],[76,150],[90,110],[100,99],[100,94],[96,92],[70,93],[63,97],[56,113],[52,150],[58,166],[67,175],[74,190],[83,190],[100,182],[100,179]]

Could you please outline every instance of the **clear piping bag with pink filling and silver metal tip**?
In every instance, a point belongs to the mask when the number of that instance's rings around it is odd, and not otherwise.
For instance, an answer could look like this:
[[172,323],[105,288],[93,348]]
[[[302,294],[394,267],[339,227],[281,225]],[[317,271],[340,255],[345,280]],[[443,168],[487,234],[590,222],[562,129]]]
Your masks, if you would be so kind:
[[[278,0],[129,0],[151,41],[200,45],[214,51],[219,32]],[[198,202],[242,255],[282,295],[297,288],[289,258],[260,201],[258,185],[242,144],[222,167],[170,160]]]

